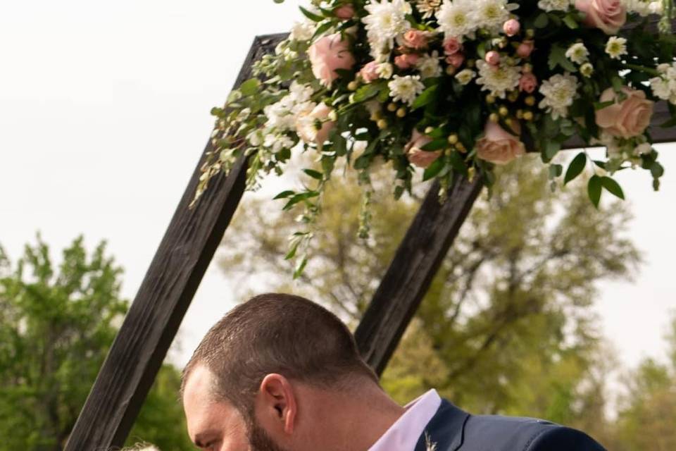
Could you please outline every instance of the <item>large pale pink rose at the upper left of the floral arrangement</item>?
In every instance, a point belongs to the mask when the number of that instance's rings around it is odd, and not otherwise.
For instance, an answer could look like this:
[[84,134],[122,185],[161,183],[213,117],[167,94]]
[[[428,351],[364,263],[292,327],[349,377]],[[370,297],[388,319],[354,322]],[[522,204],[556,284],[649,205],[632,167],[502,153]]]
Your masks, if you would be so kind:
[[351,69],[355,63],[349,42],[342,39],[340,33],[317,39],[308,49],[308,56],[312,73],[325,86],[330,86],[338,78],[336,69]]

